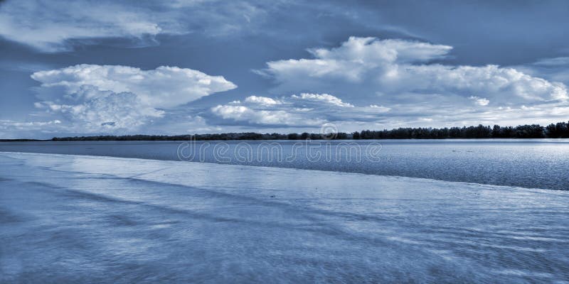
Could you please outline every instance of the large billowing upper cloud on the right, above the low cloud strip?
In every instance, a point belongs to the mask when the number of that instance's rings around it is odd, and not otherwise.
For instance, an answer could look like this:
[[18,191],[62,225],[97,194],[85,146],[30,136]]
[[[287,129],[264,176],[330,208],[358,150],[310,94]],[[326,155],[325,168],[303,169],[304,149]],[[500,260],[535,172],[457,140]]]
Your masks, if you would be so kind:
[[486,97],[492,102],[548,102],[569,99],[560,82],[497,65],[453,66],[435,63],[447,57],[447,45],[410,40],[351,37],[337,48],[309,50],[314,58],[267,62],[257,72],[277,82],[275,92],[335,92],[352,99],[383,96],[391,102],[419,102],[423,94]]

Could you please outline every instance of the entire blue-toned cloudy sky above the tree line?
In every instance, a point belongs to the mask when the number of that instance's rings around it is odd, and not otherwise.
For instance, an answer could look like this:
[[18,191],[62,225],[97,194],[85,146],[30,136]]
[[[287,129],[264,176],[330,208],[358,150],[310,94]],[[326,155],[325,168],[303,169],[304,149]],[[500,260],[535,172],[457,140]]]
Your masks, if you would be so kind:
[[569,1],[0,1],[0,138],[569,120]]

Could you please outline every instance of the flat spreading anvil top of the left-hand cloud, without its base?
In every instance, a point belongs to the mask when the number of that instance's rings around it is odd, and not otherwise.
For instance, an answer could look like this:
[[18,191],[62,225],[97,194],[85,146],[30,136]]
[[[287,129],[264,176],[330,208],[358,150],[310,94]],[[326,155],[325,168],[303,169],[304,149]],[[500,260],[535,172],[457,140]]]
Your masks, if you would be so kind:
[[[179,106],[237,87],[222,76],[169,66],[140,70],[121,65],[82,64],[35,72],[31,77],[44,88],[63,87],[68,96],[90,99],[92,90],[95,95],[105,91],[132,92],[143,103],[157,108]],[[85,86],[90,88],[85,90]]]

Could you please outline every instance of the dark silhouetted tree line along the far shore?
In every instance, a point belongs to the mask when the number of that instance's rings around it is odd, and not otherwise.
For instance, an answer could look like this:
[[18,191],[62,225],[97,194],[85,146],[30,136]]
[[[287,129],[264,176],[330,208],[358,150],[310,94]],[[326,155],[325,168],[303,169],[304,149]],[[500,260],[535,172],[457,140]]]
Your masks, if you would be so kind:
[[233,141],[233,140],[321,140],[321,139],[450,139],[450,138],[569,138],[569,123],[559,122],[512,126],[463,126],[450,128],[398,128],[391,130],[363,130],[353,133],[218,133],[178,136],[126,135],[55,137],[52,141]]

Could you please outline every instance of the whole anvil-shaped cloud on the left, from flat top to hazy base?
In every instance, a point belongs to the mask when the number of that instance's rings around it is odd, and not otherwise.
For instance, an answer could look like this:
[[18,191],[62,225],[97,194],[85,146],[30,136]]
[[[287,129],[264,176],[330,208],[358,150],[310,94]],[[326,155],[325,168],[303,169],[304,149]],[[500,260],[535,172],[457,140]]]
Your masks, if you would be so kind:
[[135,131],[164,110],[236,87],[221,76],[166,66],[75,65],[31,77],[41,82],[35,106],[85,132]]

